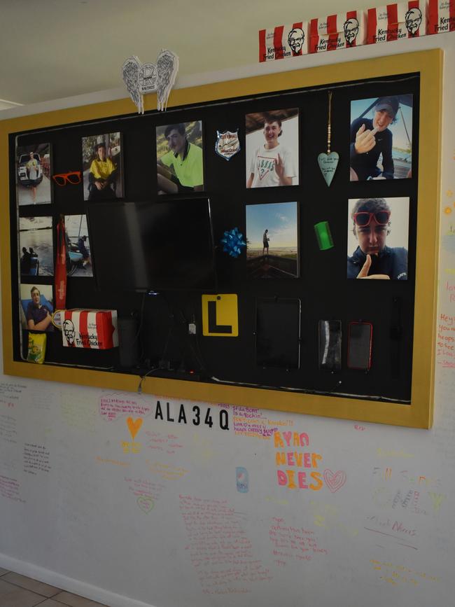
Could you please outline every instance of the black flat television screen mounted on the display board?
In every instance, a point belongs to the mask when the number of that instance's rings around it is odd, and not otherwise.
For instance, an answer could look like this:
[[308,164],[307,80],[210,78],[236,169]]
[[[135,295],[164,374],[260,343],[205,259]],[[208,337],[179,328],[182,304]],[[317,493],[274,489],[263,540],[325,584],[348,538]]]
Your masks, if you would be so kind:
[[96,202],[87,216],[99,289],[216,289],[207,198]]

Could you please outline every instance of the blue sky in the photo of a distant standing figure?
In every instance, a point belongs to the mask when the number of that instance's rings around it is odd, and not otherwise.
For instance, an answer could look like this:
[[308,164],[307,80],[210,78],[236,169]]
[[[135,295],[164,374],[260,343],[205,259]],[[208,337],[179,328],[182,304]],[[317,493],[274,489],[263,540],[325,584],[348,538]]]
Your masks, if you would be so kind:
[[251,249],[262,249],[266,229],[270,249],[297,249],[297,202],[247,204],[246,238]]

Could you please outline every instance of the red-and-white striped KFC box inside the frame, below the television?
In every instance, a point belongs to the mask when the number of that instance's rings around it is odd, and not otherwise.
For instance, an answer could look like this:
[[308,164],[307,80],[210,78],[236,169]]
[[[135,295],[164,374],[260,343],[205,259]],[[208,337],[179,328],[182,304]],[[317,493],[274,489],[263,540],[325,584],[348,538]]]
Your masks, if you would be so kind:
[[63,345],[106,350],[118,346],[117,310],[64,310]]

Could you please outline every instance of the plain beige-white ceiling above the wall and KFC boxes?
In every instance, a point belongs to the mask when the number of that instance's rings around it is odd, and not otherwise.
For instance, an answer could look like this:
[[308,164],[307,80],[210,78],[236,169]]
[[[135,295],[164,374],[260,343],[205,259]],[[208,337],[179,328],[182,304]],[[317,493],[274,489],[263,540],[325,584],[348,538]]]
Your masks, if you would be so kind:
[[118,88],[127,57],[154,62],[161,48],[179,55],[181,77],[255,64],[259,29],[372,4],[0,0],[0,109]]

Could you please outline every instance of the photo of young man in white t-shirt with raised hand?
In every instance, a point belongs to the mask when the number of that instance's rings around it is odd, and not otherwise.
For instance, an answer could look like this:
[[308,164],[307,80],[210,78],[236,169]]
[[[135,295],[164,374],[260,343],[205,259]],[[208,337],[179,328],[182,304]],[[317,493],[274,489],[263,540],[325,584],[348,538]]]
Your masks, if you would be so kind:
[[[284,110],[281,115],[286,112],[289,111]],[[278,112],[262,115],[262,129],[250,133],[248,121],[251,127],[253,117],[257,120],[258,115],[246,116],[246,188],[298,185],[298,110],[293,112],[294,116],[286,118],[286,144],[279,139],[285,119]]]

